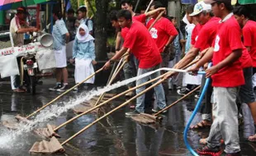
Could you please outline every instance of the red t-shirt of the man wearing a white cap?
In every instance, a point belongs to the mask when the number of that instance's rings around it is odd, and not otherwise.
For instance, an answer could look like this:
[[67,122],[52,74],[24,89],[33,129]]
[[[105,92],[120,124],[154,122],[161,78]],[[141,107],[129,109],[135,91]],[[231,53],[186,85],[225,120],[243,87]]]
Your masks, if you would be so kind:
[[216,38],[217,26],[219,25],[220,18],[212,17],[210,21],[207,21],[205,25],[201,27],[198,34],[195,48],[199,48],[200,51],[211,47],[214,39]]

